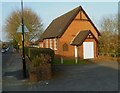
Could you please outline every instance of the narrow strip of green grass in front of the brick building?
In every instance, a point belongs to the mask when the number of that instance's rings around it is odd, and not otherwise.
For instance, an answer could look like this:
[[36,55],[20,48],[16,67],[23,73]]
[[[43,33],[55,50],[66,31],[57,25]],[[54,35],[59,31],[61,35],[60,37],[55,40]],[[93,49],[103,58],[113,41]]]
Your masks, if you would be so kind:
[[92,63],[92,62],[89,62],[88,60],[80,60],[78,59],[77,63],[75,61],[75,59],[66,59],[66,58],[63,58],[63,61],[61,61],[61,59],[58,59],[58,58],[54,58],[54,61],[53,61],[53,64],[65,64],[65,65],[72,65],[72,64],[89,64],[89,63]]

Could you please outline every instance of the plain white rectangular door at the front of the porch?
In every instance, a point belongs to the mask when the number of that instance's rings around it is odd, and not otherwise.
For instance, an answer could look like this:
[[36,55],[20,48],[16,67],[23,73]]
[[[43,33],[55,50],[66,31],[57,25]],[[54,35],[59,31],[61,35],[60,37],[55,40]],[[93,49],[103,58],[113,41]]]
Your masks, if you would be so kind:
[[94,58],[94,42],[83,42],[84,59]]

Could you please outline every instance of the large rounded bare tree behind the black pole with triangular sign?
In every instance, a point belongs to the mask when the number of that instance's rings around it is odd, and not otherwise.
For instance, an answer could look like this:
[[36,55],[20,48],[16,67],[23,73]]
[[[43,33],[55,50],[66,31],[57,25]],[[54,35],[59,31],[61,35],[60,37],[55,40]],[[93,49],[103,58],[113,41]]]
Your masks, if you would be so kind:
[[[24,24],[28,28],[29,33],[25,34],[25,41],[29,42],[36,34],[41,34],[43,30],[43,24],[38,15],[29,8],[25,8],[23,11]],[[13,11],[6,19],[5,31],[8,33],[8,37],[15,39],[18,43],[21,42],[21,34],[17,33],[18,27],[21,25],[21,10]],[[39,35],[38,35],[39,36]]]

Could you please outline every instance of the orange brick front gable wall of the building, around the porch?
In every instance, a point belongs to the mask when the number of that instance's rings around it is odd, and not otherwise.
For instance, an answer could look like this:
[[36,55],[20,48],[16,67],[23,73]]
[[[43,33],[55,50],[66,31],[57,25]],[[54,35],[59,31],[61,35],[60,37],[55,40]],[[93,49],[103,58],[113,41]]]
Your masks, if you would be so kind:
[[[82,15],[85,19],[85,15]],[[89,21],[81,21],[76,20],[80,18],[80,15],[78,14],[76,18],[73,20],[73,22],[70,24],[70,26],[67,28],[67,30],[64,32],[64,34],[61,36],[59,40],[59,54],[62,56],[67,57],[73,57],[74,56],[74,46],[70,45],[70,42],[74,38],[74,36],[82,30],[91,30],[91,32],[94,34],[96,38],[98,38],[98,33],[94,29],[94,27],[90,24]],[[89,41],[89,40],[87,40]],[[67,43],[69,45],[69,51],[63,51],[63,44]],[[96,48],[96,44],[95,44]],[[83,52],[83,46],[79,46],[80,52]],[[81,58],[83,58],[83,53],[78,54]],[[96,57],[96,50],[95,50],[95,57]]]

